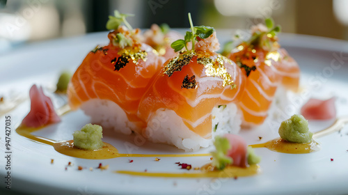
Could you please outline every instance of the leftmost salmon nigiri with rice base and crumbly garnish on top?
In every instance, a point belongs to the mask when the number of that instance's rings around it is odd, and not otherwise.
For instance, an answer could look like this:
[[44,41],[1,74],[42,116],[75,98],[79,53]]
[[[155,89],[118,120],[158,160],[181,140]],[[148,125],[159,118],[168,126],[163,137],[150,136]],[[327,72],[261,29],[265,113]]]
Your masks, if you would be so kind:
[[93,123],[126,134],[146,126],[137,116],[139,101],[163,64],[139,33],[118,26],[109,33],[109,45],[87,54],[68,86],[72,109],[81,107]]

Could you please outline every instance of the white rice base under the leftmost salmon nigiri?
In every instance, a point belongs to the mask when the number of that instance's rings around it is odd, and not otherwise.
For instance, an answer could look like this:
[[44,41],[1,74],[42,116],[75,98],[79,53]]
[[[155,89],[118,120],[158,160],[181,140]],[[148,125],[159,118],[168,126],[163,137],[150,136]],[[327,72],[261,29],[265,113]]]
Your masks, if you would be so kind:
[[129,122],[125,111],[111,100],[92,99],[84,102],[81,109],[90,116],[90,123],[102,125],[122,134],[132,134],[136,125]]

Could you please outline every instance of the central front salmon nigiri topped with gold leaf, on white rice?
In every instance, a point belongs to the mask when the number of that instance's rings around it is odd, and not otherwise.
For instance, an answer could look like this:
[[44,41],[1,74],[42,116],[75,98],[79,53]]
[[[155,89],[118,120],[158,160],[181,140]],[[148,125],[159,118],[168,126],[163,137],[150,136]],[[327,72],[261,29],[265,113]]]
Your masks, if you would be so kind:
[[[210,27],[204,28],[210,31]],[[211,145],[214,133],[222,127],[238,132],[240,122],[233,120],[237,115],[233,103],[242,94],[245,77],[235,63],[216,54],[219,42],[212,31],[205,38],[193,36],[193,49],[166,61],[143,96],[139,116],[148,123],[144,134],[151,141],[189,151]],[[227,120],[214,123],[223,112]]]

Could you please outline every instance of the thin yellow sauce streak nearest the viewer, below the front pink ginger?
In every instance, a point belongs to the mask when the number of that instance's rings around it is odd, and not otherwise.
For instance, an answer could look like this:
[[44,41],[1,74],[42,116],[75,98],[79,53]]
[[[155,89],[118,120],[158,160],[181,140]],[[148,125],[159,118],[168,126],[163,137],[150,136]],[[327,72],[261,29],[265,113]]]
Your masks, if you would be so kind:
[[227,166],[222,171],[206,170],[207,164],[200,168],[200,171],[193,171],[192,173],[156,173],[156,172],[140,172],[140,171],[115,171],[115,173],[127,174],[131,176],[145,176],[145,177],[162,177],[162,178],[235,178],[254,176],[260,172],[260,166],[253,164],[249,167],[242,168],[239,166]]

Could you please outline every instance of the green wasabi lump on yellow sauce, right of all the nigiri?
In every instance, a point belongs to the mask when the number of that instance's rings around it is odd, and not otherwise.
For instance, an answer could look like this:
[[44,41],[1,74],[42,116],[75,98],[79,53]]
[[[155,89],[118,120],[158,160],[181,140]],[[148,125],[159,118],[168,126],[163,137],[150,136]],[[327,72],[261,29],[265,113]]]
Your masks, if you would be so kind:
[[309,143],[313,137],[313,133],[308,128],[308,120],[301,114],[294,114],[284,120],[278,132],[282,139],[295,143]]

